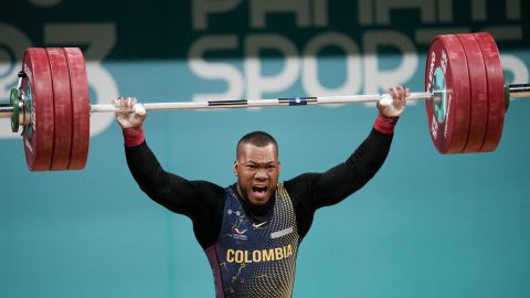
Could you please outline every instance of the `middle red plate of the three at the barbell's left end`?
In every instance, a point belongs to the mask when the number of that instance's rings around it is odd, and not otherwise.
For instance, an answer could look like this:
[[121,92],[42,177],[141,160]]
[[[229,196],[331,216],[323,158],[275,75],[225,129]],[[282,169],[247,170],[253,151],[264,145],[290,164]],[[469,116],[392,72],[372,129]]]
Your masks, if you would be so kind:
[[55,136],[50,170],[68,169],[72,150],[72,103],[70,74],[66,56],[62,49],[46,49],[52,72]]

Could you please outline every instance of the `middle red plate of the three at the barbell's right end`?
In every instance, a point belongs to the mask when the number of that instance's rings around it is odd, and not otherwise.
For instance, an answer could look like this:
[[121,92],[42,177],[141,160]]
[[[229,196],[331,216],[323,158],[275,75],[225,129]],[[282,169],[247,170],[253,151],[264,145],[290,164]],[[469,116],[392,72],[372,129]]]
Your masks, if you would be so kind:
[[471,34],[458,34],[466,53],[469,70],[470,103],[469,135],[462,152],[479,152],[486,134],[488,121],[488,83],[483,51]]

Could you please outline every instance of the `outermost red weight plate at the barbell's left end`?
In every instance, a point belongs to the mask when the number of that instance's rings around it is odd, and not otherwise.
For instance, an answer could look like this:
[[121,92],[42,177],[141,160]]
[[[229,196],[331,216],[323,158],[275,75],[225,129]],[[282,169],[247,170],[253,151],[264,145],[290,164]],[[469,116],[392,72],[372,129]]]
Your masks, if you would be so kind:
[[47,171],[53,155],[53,89],[50,63],[44,49],[24,52],[22,94],[28,100],[31,123],[24,126],[25,161],[30,171]]

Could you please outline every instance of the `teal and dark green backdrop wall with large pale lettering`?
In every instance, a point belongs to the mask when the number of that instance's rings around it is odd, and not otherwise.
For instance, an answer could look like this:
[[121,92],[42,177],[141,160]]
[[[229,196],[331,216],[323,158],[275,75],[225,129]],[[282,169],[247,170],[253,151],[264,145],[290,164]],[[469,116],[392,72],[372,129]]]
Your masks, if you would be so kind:
[[[428,41],[477,31],[496,36],[507,81],[528,83],[529,3],[4,1],[0,100],[25,47],[67,45],[85,52],[93,103],[422,91]],[[409,105],[377,177],[317,212],[294,296],[530,297],[524,102],[511,103],[495,152],[458,156],[436,152],[424,105]],[[375,114],[363,105],[153,111],[145,130],[167,170],[229,185],[234,145],[247,131],[278,139],[289,179],[346,159]],[[0,297],[212,297],[191,222],[137,188],[113,116],[92,119],[87,168],[46,173],[26,170],[20,137],[0,121]]]

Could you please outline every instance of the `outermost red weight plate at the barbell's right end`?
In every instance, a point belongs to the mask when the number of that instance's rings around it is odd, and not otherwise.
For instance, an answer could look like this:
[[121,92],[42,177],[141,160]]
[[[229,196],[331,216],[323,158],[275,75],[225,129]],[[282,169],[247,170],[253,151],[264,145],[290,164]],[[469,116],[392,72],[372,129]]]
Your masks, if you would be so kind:
[[499,50],[489,33],[475,33],[483,51],[488,78],[488,124],[480,152],[490,152],[497,148],[505,124],[505,78]]

